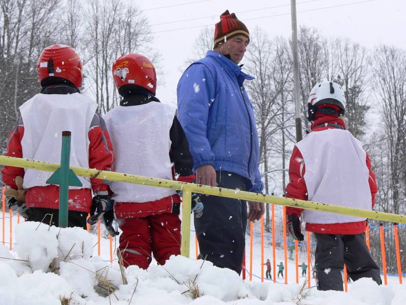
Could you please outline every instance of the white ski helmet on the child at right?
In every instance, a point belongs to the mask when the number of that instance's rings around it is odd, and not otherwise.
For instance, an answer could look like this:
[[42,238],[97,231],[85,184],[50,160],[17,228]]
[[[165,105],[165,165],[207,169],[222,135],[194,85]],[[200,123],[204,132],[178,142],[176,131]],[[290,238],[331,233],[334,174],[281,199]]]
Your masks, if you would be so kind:
[[342,87],[332,81],[322,81],[317,83],[309,94],[308,103],[312,106],[322,104],[332,104],[346,109],[346,97]]

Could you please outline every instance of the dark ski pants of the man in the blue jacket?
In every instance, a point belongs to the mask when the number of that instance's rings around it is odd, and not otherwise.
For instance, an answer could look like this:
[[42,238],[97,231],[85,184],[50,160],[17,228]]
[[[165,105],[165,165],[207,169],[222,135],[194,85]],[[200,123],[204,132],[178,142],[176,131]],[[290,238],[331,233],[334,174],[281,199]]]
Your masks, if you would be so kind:
[[[246,178],[227,171],[217,171],[220,188],[246,191]],[[199,242],[199,258],[211,261],[217,267],[242,271],[245,231],[247,229],[247,202],[238,199],[200,195],[204,205],[200,218],[194,218]]]

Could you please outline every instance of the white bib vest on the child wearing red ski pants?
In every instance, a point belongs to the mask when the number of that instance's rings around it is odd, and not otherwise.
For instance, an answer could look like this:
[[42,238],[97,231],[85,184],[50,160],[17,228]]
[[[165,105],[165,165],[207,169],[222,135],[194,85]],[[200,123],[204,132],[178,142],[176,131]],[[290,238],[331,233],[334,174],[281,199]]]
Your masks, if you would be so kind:
[[[173,179],[169,157],[170,130],[176,109],[158,102],[117,106],[105,115],[117,172]],[[118,202],[155,201],[176,194],[175,190],[111,181]]]

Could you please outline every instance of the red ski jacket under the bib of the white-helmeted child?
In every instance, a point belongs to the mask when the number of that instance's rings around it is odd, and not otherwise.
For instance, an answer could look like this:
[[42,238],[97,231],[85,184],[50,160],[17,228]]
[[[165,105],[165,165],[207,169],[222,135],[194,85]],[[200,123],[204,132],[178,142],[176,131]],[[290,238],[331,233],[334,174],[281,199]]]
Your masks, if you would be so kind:
[[[333,118],[331,116],[324,116],[316,119],[312,126],[311,132],[317,132],[321,130],[326,130],[334,128],[333,126],[325,126],[323,124],[339,124],[346,128],[346,125],[342,119]],[[323,126],[320,126],[323,125]],[[299,159],[298,159],[299,158]],[[306,182],[304,181],[304,173],[306,172],[306,165],[300,168],[301,163],[296,160],[303,159],[300,154],[299,149],[295,146],[293,148],[292,157],[289,163],[289,184],[286,187],[286,197],[294,199],[308,200],[308,192],[306,188]],[[371,163],[368,154],[366,154],[366,166],[369,170],[369,188],[371,191],[371,206],[375,205],[375,195],[378,193],[378,188],[376,184],[376,177],[374,172],[371,170]],[[300,215],[301,208],[287,207],[286,215],[290,216],[292,214]],[[355,235],[360,234],[365,231],[366,222],[350,222],[350,223],[335,223],[335,224],[313,224],[306,223],[306,230],[310,232],[322,233],[322,234],[349,234]]]

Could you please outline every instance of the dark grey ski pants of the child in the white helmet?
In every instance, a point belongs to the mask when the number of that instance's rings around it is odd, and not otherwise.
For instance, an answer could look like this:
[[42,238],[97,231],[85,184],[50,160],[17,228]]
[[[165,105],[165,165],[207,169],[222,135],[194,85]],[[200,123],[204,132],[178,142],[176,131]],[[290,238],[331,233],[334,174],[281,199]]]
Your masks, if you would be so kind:
[[317,239],[315,268],[318,290],[343,291],[341,270],[347,265],[351,280],[372,278],[382,284],[380,270],[370,256],[363,233],[330,235],[315,233]]

